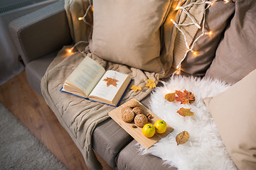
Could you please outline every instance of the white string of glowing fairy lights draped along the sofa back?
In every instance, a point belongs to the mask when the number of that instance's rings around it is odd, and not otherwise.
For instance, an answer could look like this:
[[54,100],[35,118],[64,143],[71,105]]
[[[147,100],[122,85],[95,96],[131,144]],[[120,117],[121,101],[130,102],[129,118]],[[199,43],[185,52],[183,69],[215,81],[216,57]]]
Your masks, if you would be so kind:
[[[191,23],[186,23],[186,24],[182,24],[182,23],[176,23],[176,21],[174,21],[173,19],[171,19],[171,22],[174,24],[174,26],[178,29],[178,31],[180,31],[183,35],[183,38],[184,38],[184,41],[185,41],[185,45],[186,45],[186,52],[183,56],[183,58],[181,59],[181,61],[178,63],[178,65],[176,66],[176,71],[173,73],[174,74],[181,74],[181,63],[183,62],[183,60],[186,59],[186,56],[188,55],[188,52],[192,52],[193,55],[196,57],[198,55],[198,51],[194,51],[193,50],[193,47],[195,45],[195,43],[201,38],[203,37],[203,35],[208,35],[209,37],[213,35],[213,30],[209,30],[209,31],[206,31],[205,29],[205,22],[206,22],[206,10],[208,8],[210,8],[210,6],[213,6],[213,4],[215,4],[216,1],[220,1],[220,0],[213,0],[213,1],[207,1],[207,0],[201,0],[201,1],[194,1],[194,2],[191,2],[190,4],[186,5],[186,6],[182,6],[181,2],[182,0],[180,0],[176,6],[176,10],[182,10],[183,13],[186,13],[186,15],[191,18]],[[233,1],[233,0],[222,0],[225,4],[227,4],[229,1]],[[91,27],[91,33],[89,35],[89,39],[91,38],[91,34],[92,34],[92,24],[88,23],[86,21],[86,16],[87,16],[87,13],[89,12],[90,9],[92,9],[93,11],[93,6],[92,6],[92,2],[89,1],[90,5],[87,7],[87,10],[85,11],[85,15],[82,16],[82,17],[79,17],[78,20],[79,21],[84,21],[88,26]],[[194,5],[202,5],[202,4],[206,4],[206,8],[203,12],[203,21],[202,21],[202,26],[200,26],[198,23],[196,23],[196,21],[193,19],[193,17],[191,16],[191,14],[189,13],[188,11],[188,8],[190,8],[191,6],[194,6]],[[191,26],[191,25],[194,25],[196,26],[198,29],[201,29],[201,35],[198,36],[198,38],[196,38],[195,40],[193,40],[193,42],[191,42],[191,45],[188,45],[188,42],[187,42],[187,38],[186,38],[186,35],[185,33],[183,33],[183,30],[181,30],[181,27],[186,27],[186,26]],[[89,42],[89,40],[88,40]],[[78,42],[76,43],[72,48],[70,48],[70,50],[68,50],[68,52],[72,52],[74,47],[80,43],[85,43],[85,41],[82,41],[82,42]],[[87,43],[87,42],[86,42]]]

